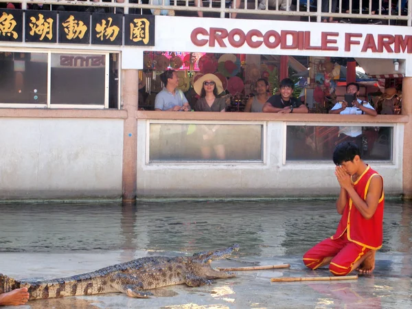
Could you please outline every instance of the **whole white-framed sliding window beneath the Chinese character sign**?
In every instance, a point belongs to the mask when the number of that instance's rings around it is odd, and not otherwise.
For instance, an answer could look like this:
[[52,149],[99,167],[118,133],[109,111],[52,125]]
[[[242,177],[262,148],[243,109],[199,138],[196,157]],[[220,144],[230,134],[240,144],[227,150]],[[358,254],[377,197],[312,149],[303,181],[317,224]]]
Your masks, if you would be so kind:
[[0,105],[119,108],[117,54],[0,52]]

